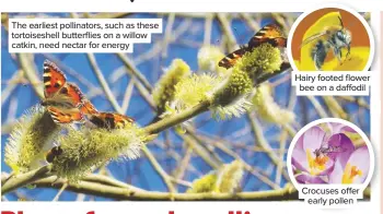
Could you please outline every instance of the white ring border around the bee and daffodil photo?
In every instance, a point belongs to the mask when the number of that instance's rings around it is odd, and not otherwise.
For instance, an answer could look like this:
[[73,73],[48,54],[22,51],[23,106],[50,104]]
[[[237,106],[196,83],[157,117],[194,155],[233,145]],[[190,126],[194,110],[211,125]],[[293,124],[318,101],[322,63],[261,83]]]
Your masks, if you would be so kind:
[[367,34],[369,35],[369,38],[370,38],[370,56],[369,56],[369,60],[367,61],[367,64],[364,67],[364,69],[362,71],[368,71],[370,68],[371,68],[371,64],[372,64],[372,61],[373,61],[373,58],[374,58],[374,55],[375,55],[375,40],[374,40],[374,37],[373,37],[373,34],[372,34],[372,29],[369,25],[369,23],[364,20],[363,16],[361,16],[357,11],[350,9],[350,8],[347,8],[345,5],[340,5],[340,4],[336,4],[336,3],[332,3],[332,4],[324,4],[322,5],[321,8],[314,8],[314,9],[311,9],[306,12],[304,12],[303,14],[301,14],[297,20],[295,22],[292,24],[291,28],[290,28],[290,32],[289,32],[289,36],[288,36],[288,45],[287,45],[287,48],[288,48],[288,58],[289,58],[289,61],[290,61],[290,64],[291,64],[291,68],[293,71],[300,71],[298,70],[297,66],[295,66],[295,62],[294,62],[294,59],[292,57],[292,49],[291,49],[291,44],[292,44],[292,37],[293,37],[293,34],[298,27],[298,25],[311,13],[315,12],[315,11],[318,11],[318,10],[322,10],[322,9],[327,9],[327,8],[335,8],[335,9],[341,9],[341,10],[345,10],[349,13],[351,13],[353,16],[356,16],[364,26],[365,31],[367,31]]

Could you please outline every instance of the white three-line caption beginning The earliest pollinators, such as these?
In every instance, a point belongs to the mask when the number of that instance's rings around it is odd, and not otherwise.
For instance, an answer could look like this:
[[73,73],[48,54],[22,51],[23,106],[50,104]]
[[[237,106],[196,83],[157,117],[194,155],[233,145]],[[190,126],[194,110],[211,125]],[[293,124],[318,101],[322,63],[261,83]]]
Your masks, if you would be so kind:
[[132,52],[161,19],[10,19],[10,52]]

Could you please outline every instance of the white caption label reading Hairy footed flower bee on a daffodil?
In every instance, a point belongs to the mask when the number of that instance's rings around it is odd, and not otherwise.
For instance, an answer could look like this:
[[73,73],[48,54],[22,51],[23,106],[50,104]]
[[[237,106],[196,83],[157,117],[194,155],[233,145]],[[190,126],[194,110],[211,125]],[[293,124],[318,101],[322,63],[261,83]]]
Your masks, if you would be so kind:
[[302,72],[292,73],[298,96],[368,96],[371,72]]

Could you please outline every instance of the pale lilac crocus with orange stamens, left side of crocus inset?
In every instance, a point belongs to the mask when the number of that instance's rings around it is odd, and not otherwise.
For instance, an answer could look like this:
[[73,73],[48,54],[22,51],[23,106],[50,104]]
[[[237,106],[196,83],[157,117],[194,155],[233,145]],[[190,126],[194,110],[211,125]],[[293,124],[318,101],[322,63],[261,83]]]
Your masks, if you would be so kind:
[[292,152],[292,165],[310,176],[328,175],[334,168],[334,160],[326,155],[315,155],[323,147],[326,132],[320,127],[309,129],[298,140]]

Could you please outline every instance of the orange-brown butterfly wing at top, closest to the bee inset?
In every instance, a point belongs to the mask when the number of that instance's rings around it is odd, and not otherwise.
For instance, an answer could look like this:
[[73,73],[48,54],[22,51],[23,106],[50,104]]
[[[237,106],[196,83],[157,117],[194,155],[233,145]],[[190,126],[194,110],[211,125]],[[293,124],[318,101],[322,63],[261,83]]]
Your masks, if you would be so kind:
[[264,43],[269,43],[274,47],[287,47],[285,33],[276,24],[265,25],[249,39],[247,45],[249,49],[253,49]]

